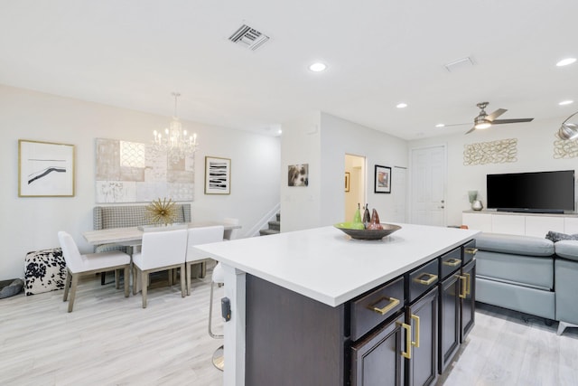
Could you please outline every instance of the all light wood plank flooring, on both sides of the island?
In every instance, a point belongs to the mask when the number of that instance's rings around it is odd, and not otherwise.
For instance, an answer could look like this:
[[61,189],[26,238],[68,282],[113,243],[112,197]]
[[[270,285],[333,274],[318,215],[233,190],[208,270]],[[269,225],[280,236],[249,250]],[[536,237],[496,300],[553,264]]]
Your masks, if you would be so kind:
[[[99,278],[81,282],[70,314],[62,291],[0,300],[0,384],[221,385],[211,356],[222,341],[207,332],[210,268],[190,297],[178,285],[154,286],[145,309],[140,296],[126,298]],[[479,305],[467,343],[438,385],[576,385],[578,328],[557,336],[556,327]]]

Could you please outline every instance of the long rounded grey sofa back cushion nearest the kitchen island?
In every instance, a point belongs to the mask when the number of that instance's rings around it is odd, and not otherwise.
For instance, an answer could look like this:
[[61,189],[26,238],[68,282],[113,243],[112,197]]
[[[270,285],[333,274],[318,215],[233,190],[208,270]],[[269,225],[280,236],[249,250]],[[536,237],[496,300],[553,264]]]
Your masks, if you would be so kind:
[[554,255],[554,242],[540,237],[481,232],[475,239],[480,250],[526,256]]

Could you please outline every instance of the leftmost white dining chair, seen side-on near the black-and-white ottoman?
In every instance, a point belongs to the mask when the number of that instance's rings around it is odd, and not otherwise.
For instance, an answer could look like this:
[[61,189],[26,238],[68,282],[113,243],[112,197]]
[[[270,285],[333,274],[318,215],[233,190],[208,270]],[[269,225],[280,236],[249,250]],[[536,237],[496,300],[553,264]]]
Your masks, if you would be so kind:
[[72,236],[66,231],[58,232],[58,240],[61,244],[62,256],[66,262],[66,284],[64,286],[64,297],[66,301],[69,297],[69,312],[72,312],[76,289],[79,285],[81,276],[95,275],[107,270],[124,269],[125,271],[125,297],[129,295],[129,275],[130,275],[130,256],[119,250],[110,250],[107,252],[89,253],[82,255]]

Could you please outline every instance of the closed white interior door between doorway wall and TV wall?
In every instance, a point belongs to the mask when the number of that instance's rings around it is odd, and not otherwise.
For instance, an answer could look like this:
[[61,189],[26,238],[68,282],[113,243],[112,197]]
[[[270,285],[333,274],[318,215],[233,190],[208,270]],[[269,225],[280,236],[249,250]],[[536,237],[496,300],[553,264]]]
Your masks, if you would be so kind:
[[411,222],[445,226],[445,146],[413,149],[411,161]]

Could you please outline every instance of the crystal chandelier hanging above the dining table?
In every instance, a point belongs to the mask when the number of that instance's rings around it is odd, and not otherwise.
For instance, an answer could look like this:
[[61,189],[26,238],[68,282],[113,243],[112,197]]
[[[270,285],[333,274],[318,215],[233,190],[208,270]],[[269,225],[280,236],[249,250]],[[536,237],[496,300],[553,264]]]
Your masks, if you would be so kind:
[[197,150],[197,134],[187,135],[187,130],[182,129],[182,124],[177,118],[177,98],[181,96],[178,92],[172,92],[174,97],[174,116],[172,117],[169,127],[160,133],[156,130],[154,136],[154,150],[166,153],[167,158],[173,164],[178,163],[186,156],[195,154]]

